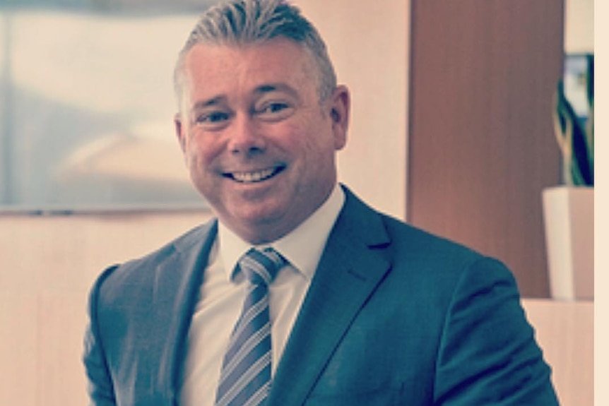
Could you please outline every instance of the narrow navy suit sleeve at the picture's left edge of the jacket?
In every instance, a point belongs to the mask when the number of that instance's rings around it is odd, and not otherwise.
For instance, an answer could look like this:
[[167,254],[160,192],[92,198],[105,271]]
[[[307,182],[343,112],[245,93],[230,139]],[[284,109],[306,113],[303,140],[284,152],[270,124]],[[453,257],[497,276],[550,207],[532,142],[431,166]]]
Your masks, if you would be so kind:
[[97,302],[105,277],[109,275],[115,267],[109,268],[102,273],[89,295],[88,315],[89,322],[85,330],[83,363],[88,378],[88,394],[90,406],[116,406],[114,398],[114,388],[112,377],[108,369],[102,347],[100,331],[97,324]]

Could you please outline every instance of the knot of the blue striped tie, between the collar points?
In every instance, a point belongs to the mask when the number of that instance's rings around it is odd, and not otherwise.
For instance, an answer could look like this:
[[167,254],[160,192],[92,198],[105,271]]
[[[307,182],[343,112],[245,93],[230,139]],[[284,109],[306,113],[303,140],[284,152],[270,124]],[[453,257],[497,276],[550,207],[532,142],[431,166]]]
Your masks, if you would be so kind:
[[242,272],[254,285],[271,284],[284,263],[283,256],[272,248],[252,248],[239,260]]

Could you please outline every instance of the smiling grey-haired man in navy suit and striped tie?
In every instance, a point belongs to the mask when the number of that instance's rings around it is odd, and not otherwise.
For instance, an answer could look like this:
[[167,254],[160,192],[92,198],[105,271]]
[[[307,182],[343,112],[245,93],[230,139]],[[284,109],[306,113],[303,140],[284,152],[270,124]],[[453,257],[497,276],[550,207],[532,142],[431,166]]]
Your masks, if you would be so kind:
[[509,270],[337,184],[350,97],[295,7],[211,8],[175,81],[218,220],[97,280],[94,405],[557,405]]

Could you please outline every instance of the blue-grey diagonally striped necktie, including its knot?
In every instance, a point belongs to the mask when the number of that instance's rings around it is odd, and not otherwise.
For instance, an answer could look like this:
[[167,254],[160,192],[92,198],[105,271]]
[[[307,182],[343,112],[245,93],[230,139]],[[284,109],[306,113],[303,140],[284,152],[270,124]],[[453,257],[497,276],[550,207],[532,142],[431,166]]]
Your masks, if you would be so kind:
[[224,357],[215,406],[258,406],[271,390],[271,319],[268,285],[285,260],[271,249],[250,249],[239,261],[247,297]]

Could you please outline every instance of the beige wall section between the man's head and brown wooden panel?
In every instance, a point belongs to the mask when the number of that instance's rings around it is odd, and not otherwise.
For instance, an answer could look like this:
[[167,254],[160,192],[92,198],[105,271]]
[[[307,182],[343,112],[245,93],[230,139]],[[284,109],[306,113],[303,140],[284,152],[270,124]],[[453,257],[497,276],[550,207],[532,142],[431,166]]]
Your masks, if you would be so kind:
[[409,0],[297,0],[326,39],[352,96],[341,181],[374,207],[406,218]]

